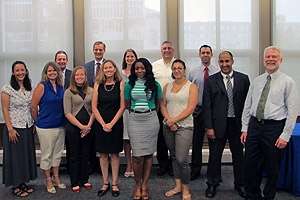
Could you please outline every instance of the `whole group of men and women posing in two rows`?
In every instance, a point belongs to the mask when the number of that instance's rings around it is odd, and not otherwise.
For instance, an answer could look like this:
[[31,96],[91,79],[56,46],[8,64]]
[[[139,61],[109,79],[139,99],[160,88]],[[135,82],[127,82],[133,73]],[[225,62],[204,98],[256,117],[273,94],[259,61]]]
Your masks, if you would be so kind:
[[[55,62],[45,65],[35,89],[25,63],[16,61],[12,65],[11,80],[3,86],[1,100],[6,123],[3,183],[13,186],[13,194],[25,197],[34,191],[25,183],[37,177],[36,131],[40,168],[49,193],[56,193],[54,186],[66,188],[59,178],[66,143],[73,192],[80,192],[80,186],[92,188],[88,165],[98,152],[103,179],[98,196],[111,189],[112,196],[118,197],[119,153],[124,149],[124,176],[135,179],[133,198],[149,199],[148,180],[157,151],[157,174],[169,170],[175,178],[174,188],[165,196],[181,194],[182,200],[190,200],[189,184],[201,174],[206,135],[206,197],[213,198],[222,181],[221,159],[228,140],[234,188],[239,195],[263,198],[260,184],[265,166],[268,181],[264,199],[274,199],[280,157],[298,114],[296,85],[279,71],[282,55],[278,47],[265,49],[266,72],[251,86],[247,75],[232,69],[230,51],[219,54],[219,68],[212,65],[213,53],[208,45],[200,47],[201,65],[190,72],[184,61],[174,58],[170,41],[162,43],[162,59],[152,64],[138,58],[133,49],[126,50],[122,70],[114,61],[104,59],[105,52],[105,44],[95,42],[95,59],[72,71],[66,69],[67,54],[57,52]],[[266,96],[264,102],[260,96]]]

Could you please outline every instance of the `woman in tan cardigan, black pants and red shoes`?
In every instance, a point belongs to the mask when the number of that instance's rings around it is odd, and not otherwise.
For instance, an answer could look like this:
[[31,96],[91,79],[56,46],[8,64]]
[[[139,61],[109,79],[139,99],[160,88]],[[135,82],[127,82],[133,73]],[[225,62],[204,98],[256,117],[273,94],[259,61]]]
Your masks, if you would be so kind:
[[80,192],[80,185],[92,189],[88,182],[89,149],[91,146],[91,127],[94,122],[92,113],[92,93],[86,69],[75,67],[70,77],[70,87],[64,95],[64,112],[68,119],[66,139],[70,153],[70,179],[73,192]]

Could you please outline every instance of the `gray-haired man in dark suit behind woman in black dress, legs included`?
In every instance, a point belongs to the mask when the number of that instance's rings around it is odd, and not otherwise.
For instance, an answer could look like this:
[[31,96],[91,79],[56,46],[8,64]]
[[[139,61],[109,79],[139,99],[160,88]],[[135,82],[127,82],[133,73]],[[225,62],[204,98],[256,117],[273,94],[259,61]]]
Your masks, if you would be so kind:
[[[98,72],[100,71],[100,66],[105,61],[105,58],[103,58],[106,52],[105,49],[106,49],[106,45],[103,42],[96,41],[93,45],[93,53],[95,59],[84,64],[84,67],[86,68],[87,71],[87,76],[88,76],[87,78],[90,87],[94,87],[95,78],[97,77]],[[95,138],[94,124],[92,126],[92,130],[90,131],[90,134],[92,134],[92,138]],[[100,170],[100,164],[99,164],[99,159],[97,158],[96,155],[95,143],[92,142],[90,147],[89,174],[93,174],[96,170]]]

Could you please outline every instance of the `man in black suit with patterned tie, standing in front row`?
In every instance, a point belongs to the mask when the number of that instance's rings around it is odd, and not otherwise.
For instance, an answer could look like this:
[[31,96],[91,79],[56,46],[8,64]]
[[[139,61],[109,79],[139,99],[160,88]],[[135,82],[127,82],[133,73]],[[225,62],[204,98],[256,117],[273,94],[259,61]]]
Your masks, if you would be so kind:
[[232,153],[234,188],[246,197],[243,180],[243,145],[240,142],[241,116],[250,81],[232,70],[232,53],[223,51],[218,60],[221,71],[206,79],[203,96],[204,124],[209,142],[206,197],[216,194],[221,176],[221,159],[227,139]]

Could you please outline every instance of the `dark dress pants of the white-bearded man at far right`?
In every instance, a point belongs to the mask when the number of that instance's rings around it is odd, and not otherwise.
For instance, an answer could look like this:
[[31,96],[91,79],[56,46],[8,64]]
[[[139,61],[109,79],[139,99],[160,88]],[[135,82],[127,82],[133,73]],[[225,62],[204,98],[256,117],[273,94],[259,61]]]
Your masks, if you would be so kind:
[[249,199],[262,198],[260,185],[264,168],[267,172],[264,198],[275,198],[283,153],[275,143],[284,125],[285,120],[267,120],[262,124],[250,118],[245,145],[245,190]]

